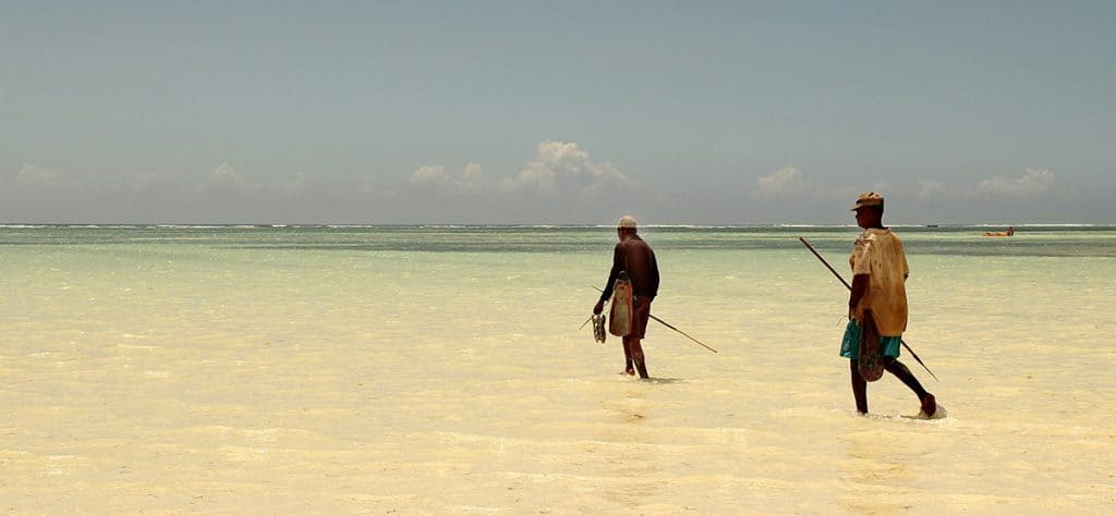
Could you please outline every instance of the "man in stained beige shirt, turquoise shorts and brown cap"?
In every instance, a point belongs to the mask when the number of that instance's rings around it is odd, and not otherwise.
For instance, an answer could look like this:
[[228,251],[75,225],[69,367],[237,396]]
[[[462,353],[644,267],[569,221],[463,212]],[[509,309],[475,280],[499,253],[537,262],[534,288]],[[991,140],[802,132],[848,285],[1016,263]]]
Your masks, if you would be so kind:
[[848,259],[853,267],[853,290],[840,356],[850,359],[856,410],[868,413],[868,382],[878,380],[886,370],[914,391],[922,412],[931,417],[937,410],[934,395],[926,392],[911,370],[897,360],[906,330],[905,282],[911,273],[903,242],[883,225],[884,197],[879,194],[860,194],[852,211],[856,212],[856,224],[864,233],[856,238]]

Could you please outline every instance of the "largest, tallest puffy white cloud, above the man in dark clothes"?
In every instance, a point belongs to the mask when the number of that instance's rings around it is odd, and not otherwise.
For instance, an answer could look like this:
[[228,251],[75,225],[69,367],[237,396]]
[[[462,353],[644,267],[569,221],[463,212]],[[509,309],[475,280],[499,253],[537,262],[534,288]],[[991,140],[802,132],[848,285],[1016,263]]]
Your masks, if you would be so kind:
[[631,186],[626,175],[608,163],[596,163],[573,142],[542,142],[535,157],[519,172],[500,183],[502,192],[600,193]]

